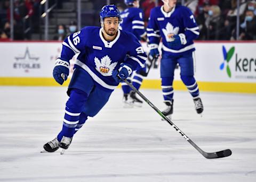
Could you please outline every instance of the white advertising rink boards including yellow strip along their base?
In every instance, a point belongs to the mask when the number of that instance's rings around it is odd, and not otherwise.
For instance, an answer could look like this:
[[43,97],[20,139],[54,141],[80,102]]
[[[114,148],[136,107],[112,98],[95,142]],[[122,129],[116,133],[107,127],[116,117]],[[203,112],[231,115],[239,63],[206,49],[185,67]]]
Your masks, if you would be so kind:
[[[0,42],[0,85],[58,86],[52,69],[61,46],[61,42],[51,41]],[[146,43],[143,47],[148,51]],[[195,77],[202,91],[256,93],[256,42],[200,41],[195,47]],[[75,57],[71,64],[74,62]],[[161,89],[159,75],[158,60],[142,88]],[[175,70],[174,89],[186,90],[179,67]]]

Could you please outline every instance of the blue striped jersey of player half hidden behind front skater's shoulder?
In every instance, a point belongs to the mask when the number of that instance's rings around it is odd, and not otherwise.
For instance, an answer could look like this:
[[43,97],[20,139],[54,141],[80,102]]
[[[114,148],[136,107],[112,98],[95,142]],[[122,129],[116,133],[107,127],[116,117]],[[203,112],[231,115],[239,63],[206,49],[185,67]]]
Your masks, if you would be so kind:
[[122,13],[120,29],[132,32],[137,39],[146,36],[145,24],[143,21],[143,11],[137,7],[126,8]]

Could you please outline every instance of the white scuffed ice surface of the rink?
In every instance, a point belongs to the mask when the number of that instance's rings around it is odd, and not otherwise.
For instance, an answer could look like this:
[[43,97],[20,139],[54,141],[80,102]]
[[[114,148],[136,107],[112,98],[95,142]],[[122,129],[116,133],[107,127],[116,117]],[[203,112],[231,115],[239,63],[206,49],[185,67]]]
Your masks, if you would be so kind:
[[[164,108],[160,90],[141,90]],[[145,102],[123,108],[117,89],[89,118],[65,154],[40,153],[61,129],[61,87],[0,87],[0,181],[256,181],[256,95],[202,92],[203,117],[188,92],[174,93],[173,123],[205,159]]]

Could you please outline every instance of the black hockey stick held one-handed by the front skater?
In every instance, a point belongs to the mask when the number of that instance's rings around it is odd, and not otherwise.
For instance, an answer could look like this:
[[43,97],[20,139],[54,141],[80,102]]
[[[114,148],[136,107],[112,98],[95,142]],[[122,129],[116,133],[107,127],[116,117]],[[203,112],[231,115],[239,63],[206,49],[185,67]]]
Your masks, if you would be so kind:
[[127,83],[127,85],[129,85],[131,87],[132,90],[134,90],[136,93],[139,94],[139,96],[145,100],[148,105],[153,108],[160,116],[162,116],[162,118],[169,123],[177,132],[179,132],[181,134],[181,136],[183,136],[185,138],[185,140],[187,140],[192,146],[194,146],[194,148],[200,152],[205,158],[207,159],[216,159],[216,158],[224,158],[224,157],[228,157],[229,155],[231,155],[231,150],[230,149],[226,149],[226,150],[222,150],[219,152],[205,152],[202,149],[199,148],[199,146],[197,146],[193,141],[190,140],[190,138],[185,135],[177,126],[175,126],[171,120],[169,118],[167,118],[166,116],[163,115],[163,113],[157,109],[153,103],[151,103],[145,96],[143,96],[142,93],[140,93],[140,91],[138,91],[129,81],[127,81],[126,79],[123,80],[125,83]]

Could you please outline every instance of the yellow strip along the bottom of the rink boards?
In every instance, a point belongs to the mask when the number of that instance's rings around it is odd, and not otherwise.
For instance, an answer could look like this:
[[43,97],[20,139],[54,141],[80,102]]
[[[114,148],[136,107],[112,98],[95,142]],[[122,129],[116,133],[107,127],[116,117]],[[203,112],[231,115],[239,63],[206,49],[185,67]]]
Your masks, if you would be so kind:
[[[69,79],[63,84],[67,86]],[[53,78],[46,77],[0,77],[0,85],[8,86],[61,86]],[[200,82],[200,91],[256,93],[256,83]],[[120,85],[118,86],[121,87]],[[143,89],[161,89],[161,80],[143,80]],[[182,81],[174,81],[174,90],[187,90]]]

